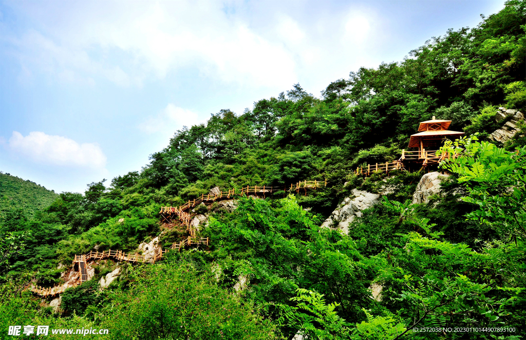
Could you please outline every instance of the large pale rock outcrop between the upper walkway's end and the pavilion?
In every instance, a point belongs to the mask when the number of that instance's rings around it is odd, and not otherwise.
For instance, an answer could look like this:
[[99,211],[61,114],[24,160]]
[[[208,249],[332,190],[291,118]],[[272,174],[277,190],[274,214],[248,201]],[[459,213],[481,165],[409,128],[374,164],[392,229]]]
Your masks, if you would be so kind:
[[349,234],[349,224],[357,217],[362,216],[362,210],[378,204],[380,200],[380,195],[375,193],[357,189],[353,189],[351,192],[355,198],[348,197],[343,200],[329,218],[321,224],[322,228],[338,228]]

